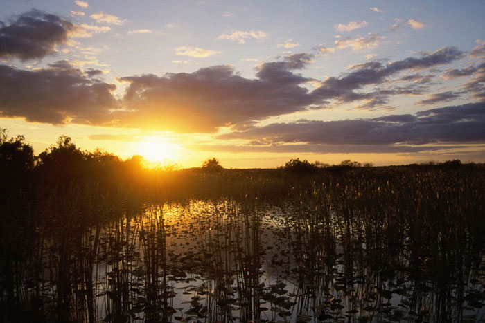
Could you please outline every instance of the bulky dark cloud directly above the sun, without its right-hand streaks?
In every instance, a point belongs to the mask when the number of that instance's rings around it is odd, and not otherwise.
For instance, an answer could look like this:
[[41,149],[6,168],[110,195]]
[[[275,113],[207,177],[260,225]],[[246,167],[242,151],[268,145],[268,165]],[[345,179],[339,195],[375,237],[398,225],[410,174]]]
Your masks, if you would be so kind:
[[218,127],[245,127],[254,120],[303,111],[319,98],[299,86],[309,79],[292,73],[311,56],[297,54],[283,62],[262,64],[258,79],[237,75],[230,66],[201,68],[194,73],[163,77],[123,77],[128,111],[120,114],[128,127],[152,127],[179,132],[213,132]]

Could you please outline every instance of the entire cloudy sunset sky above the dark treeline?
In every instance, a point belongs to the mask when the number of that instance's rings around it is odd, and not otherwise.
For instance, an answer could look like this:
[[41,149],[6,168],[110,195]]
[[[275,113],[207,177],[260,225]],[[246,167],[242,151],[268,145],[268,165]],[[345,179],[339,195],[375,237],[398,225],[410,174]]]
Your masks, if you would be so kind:
[[482,0],[0,5],[0,128],[36,154],[485,162]]

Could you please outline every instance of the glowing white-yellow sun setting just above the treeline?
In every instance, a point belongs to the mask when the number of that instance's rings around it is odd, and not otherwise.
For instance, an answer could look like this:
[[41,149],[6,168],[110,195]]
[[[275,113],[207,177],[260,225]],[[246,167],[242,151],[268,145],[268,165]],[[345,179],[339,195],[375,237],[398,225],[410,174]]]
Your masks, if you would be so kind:
[[179,162],[181,149],[169,138],[149,136],[137,145],[137,154],[143,156],[149,163],[163,164]]

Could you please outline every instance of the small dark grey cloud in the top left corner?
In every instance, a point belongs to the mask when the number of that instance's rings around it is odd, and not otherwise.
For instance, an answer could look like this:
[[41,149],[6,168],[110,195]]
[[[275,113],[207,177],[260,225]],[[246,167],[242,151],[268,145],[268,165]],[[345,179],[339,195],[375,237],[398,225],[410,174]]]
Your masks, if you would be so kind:
[[8,25],[0,21],[0,58],[26,61],[52,55],[74,29],[71,22],[38,10],[23,13]]

